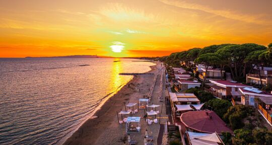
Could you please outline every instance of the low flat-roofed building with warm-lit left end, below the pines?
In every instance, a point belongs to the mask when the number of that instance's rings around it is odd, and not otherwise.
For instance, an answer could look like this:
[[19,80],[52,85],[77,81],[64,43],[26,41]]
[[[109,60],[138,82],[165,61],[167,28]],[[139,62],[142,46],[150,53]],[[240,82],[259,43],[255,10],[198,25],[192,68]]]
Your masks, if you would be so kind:
[[199,73],[199,78],[203,80],[207,76],[207,80],[220,80],[225,77],[225,70],[222,70],[222,75],[220,69],[208,68],[207,72],[205,68],[201,68],[201,73]]

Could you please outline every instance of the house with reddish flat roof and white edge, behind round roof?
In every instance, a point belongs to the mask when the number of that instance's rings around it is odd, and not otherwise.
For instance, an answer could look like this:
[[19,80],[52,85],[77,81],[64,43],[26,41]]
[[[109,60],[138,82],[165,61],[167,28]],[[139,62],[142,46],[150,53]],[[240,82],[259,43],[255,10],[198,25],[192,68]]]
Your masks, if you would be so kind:
[[237,83],[235,81],[212,81],[211,83],[205,84],[208,88],[205,88],[207,92],[212,93],[215,97],[219,99],[231,98],[231,97],[241,97],[239,93],[239,88],[252,88],[252,86]]

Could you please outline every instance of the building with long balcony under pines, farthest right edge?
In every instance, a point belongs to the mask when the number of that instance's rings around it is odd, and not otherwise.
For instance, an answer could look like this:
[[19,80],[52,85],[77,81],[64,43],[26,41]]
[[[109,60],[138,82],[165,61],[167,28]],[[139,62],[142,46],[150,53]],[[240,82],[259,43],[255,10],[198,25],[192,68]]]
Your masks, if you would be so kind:
[[[261,80],[257,69],[254,67],[252,74],[246,75],[246,83],[250,85],[262,85],[266,86],[267,84],[272,85],[272,67],[263,67],[260,70]],[[261,82],[260,82],[261,81]]]

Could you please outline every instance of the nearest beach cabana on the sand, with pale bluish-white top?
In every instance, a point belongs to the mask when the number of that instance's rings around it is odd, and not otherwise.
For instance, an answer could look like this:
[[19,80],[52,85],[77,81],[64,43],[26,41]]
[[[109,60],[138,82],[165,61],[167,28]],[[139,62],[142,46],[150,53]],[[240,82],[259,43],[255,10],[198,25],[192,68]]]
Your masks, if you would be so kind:
[[126,132],[140,132],[141,117],[127,117],[126,119]]

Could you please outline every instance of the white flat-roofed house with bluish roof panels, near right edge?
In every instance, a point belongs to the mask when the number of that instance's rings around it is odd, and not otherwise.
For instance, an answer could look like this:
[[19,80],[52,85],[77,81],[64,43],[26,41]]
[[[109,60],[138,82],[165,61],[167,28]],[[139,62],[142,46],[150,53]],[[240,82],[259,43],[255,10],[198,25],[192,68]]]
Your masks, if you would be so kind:
[[272,94],[265,91],[260,91],[256,88],[239,88],[241,93],[241,104],[243,105],[252,105],[257,106],[258,102],[255,101],[259,97],[268,97],[272,98]]

